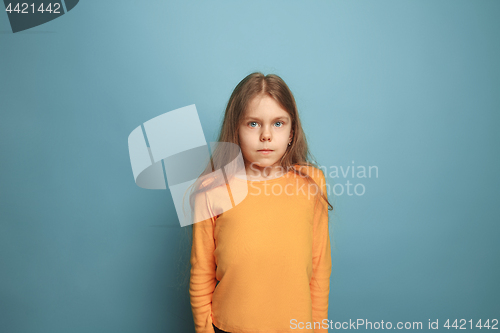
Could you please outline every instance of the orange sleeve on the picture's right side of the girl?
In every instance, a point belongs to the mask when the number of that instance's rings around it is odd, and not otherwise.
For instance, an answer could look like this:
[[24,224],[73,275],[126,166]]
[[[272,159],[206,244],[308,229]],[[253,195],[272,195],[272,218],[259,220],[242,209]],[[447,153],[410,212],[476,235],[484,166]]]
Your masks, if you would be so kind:
[[[327,196],[326,180],[321,171],[319,181],[321,190]],[[328,203],[319,198],[316,203],[313,225],[313,274],[309,287],[311,290],[312,319],[321,323],[315,333],[328,332],[323,328],[323,319],[328,318],[328,299],[330,294],[330,275],[332,271],[332,257],[330,250],[330,234],[328,228]]]

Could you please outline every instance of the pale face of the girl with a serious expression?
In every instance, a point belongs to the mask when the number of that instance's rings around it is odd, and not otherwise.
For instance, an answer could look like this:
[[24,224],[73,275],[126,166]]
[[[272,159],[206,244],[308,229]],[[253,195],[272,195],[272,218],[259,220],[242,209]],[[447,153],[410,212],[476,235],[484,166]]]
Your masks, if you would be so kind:
[[243,115],[238,135],[247,173],[262,174],[266,167],[272,171],[293,137],[290,115],[269,95],[259,95]]

